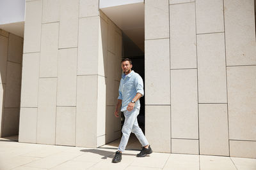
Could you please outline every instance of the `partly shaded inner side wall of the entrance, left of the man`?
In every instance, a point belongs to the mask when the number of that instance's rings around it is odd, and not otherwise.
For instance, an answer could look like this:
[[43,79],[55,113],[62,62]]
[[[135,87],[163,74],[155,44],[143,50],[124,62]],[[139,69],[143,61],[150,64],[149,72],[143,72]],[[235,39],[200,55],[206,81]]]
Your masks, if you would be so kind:
[[[98,82],[98,87],[103,88],[99,91],[99,106],[102,113],[98,113],[99,119],[104,120],[102,124],[98,122],[99,131],[97,131],[98,146],[104,145],[115,139],[120,138],[121,120],[114,115],[115,106],[118,98],[118,88],[122,69],[120,62],[122,59],[122,31],[100,11],[100,31],[102,55],[99,55],[99,73],[104,74],[104,85]],[[100,62],[102,63],[100,66]],[[101,94],[100,94],[101,93]],[[104,94],[102,94],[104,93]],[[104,96],[106,95],[106,96]],[[98,111],[99,112],[99,111]],[[100,139],[100,136],[104,139]],[[102,141],[102,142],[101,142]],[[104,141],[104,142],[103,142]]]

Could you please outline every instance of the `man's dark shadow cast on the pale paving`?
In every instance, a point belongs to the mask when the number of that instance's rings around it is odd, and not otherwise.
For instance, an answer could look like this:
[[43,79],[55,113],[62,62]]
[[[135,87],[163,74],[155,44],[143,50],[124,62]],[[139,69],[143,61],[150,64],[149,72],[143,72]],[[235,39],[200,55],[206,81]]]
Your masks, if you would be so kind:
[[[108,149],[113,149],[116,150],[116,148],[108,148]],[[102,155],[103,157],[101,159],[107,159],[108,157],[113,159],[113,157],[115,156],[115,152],[110,152],[110,151],[106,151],[106,150],[100,150],[100,148],[97,149],[85,149],[85,150],[80,150],[81,152],[89,152],[89,153],[95,153],[98,155]],[[136,157],[136,154],[132,154],[132,153],[122,153],[122,155],[131,155]]]

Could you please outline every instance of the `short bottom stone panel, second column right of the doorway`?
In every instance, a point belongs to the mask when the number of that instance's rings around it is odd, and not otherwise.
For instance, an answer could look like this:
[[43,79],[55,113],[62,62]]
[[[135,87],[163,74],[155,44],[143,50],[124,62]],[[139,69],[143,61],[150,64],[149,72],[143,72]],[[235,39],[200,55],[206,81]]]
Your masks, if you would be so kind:
[[172,139],[172,153],[199,154],[198,140]]

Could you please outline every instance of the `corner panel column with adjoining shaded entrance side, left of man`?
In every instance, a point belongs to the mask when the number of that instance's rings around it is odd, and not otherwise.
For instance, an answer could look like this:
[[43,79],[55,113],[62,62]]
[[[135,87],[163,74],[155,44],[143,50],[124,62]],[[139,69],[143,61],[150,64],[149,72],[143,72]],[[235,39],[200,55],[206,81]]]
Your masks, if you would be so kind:
[[120,127],[113,126],[120,125],[113,115],[116,56],[121,57],[122,47],[116,30],[98,1],[79,1],[76,146],[102,146],[120,136]]

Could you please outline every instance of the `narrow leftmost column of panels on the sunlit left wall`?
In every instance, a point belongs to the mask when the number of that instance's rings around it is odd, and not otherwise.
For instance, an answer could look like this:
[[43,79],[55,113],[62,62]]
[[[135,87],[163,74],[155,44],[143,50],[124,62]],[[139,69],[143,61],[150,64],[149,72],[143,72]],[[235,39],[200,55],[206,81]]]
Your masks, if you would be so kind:
[[36,143],[43,1],[26,1],[19,142]]

